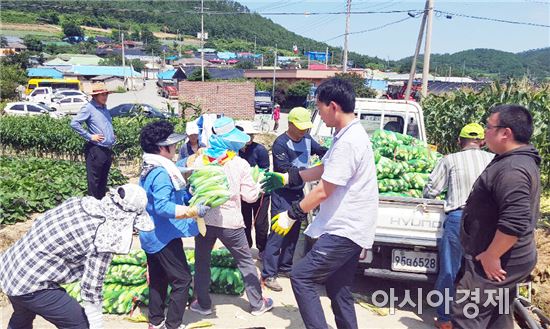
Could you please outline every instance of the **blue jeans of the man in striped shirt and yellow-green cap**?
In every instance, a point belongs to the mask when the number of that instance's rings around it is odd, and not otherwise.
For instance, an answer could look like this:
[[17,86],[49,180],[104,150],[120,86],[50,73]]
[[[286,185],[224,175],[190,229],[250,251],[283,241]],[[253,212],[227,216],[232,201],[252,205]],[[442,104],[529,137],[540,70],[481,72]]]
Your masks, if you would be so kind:
[[[455,296],[454,282],[456,275],[460,270],[462,261],[462,245],[460,244],[460,223],[462,219],[462,209],[451,211],[447,214],[443,223],[443,236],[439,243],[439,274],[435,282],[435,289],[443,296],[445,290],[449,291],[449,296]],[[447,307],[447,312],[445,308]],[[451,321],[449,306],[441,303],[437,307],[437,320],[440,322]]]

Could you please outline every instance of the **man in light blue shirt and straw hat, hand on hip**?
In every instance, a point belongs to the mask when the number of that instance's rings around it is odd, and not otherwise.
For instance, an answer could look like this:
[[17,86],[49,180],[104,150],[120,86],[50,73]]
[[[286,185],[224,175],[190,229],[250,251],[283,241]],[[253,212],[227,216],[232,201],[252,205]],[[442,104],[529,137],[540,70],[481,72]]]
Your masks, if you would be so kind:
[[[113,119],[107,109],[109,91],[103,84],[92,87],[92,100],[71,121],[71,127],[86,140],[84,156],[88,179],[88,194],[101,199],[107,192],[107,178],[112,163],[112,147],[116,137]],[[82,127],[86,123],[88,130]]]

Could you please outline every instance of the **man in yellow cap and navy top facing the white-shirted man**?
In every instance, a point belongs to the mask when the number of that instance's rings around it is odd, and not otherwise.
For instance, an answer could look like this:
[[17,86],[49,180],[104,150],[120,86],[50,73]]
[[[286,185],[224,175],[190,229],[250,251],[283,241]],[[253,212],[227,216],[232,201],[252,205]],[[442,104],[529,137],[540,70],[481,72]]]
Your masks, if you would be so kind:
[[[306,169],[311,155],[323,157],[327,151],[308,133],[313,126],[310,112],[303,107],[293,108],[288,114],[288,130],[273,142],[273,171],[286,173],[290,169]],[[271,217],[290,209],[292,202],[304,197],[304,184],[282,188],[271,194]],[[271,232],[263,255],[262,280],[273,291],[282,291],[277,275],[288,276],[292,269],[294,249],[300,235],[295,225],[282,237]]]

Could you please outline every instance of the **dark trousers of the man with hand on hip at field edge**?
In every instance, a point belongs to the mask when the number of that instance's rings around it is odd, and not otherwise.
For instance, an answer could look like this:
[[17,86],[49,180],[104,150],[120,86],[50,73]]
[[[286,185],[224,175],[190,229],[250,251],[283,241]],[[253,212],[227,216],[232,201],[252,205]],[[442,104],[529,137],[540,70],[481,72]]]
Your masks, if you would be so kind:
[[88,195],[101,199],[107,192],[107,179],[113,162],[113,151],[107,147],[87,143],[84,147]]

